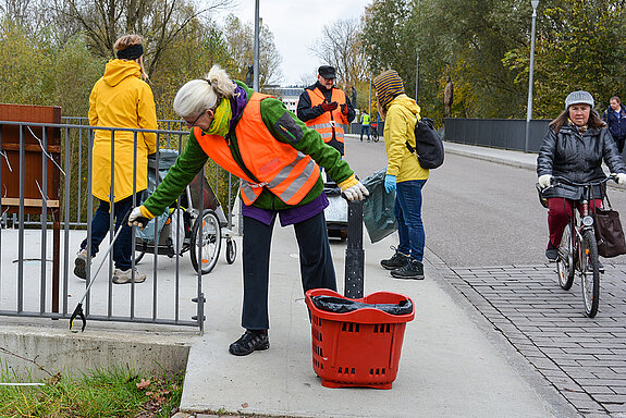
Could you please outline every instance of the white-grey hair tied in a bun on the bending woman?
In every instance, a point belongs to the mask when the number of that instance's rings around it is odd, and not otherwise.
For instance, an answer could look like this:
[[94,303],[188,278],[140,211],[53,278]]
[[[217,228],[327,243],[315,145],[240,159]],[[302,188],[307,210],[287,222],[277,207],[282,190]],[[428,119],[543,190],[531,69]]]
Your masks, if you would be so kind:
[[222,99],[235,96],[235,83],[219,65],[213,65],[202,79],[187,82],[174,98],[174,111],[181,118],[196,118],[207,109],[216,109]]

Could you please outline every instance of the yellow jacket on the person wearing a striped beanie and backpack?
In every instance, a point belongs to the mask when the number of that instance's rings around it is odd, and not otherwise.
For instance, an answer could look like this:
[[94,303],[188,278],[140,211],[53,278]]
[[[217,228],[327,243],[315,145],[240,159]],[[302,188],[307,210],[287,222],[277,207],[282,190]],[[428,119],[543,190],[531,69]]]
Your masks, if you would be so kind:
[[397,182],[428,179],[429,171],[419,165],[417,157],[405,145],[408,140],[415,148],[416,116],[419,118],[419,106],[406,95],[393,99],[386,111],[383,133],[386,174],[395,175]]

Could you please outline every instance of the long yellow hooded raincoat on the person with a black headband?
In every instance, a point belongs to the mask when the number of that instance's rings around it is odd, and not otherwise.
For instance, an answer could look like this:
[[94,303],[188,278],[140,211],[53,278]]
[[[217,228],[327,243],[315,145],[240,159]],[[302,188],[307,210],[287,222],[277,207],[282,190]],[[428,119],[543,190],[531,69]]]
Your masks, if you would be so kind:
[[[130,128],[157,128],[157,110],[152,90],[142,79],[135,61],[111,60],[105,75],[96,82],[89,96],[89,124]],[[134,134],[115,132],[114,196],[120,201],[133,195]],[[137,134],[137,192],[148,186],[148,155],[157,150],[156,134]],[[111,132],[96,130],[91,193],[110,200]]]

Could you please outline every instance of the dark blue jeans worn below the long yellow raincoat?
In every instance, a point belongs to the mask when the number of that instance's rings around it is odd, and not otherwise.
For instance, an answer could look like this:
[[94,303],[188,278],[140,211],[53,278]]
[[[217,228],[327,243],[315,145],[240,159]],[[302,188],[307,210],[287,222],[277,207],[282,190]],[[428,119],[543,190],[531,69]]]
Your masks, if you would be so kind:
[[[142,201],[142,192],[137,194],[137,201]],[[125,199],[116,201],[113,208],[113,214],[115,217],[115,231],[122,226],[122,231],[118,236],[118,241],[113,244],[113,261],[115,268],[120,270],[128,270],[131,268],[131,256],[133,249],[132,235],[133,231],[128,226],[127,222],[122,221],[128,211],[133,208],[133,196],[128,196]],[[100,200],[100,206],[96,210],[94,219],[91,219],[91,257],[96,257],[98,254],[98,248],[100,243],[105,239],[109,233],[109,202]],[[81,249],[87,247],[87,238],[81,244]]]

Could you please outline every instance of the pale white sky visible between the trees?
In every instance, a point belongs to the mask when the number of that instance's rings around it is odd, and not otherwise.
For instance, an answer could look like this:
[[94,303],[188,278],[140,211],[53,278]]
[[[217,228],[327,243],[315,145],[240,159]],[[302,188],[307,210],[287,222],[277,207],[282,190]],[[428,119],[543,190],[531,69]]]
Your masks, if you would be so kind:
[[[342,19],[360,19],[371,0],[259,0],[259,16],[274,35],[282,56],[282,86],[315,82],[323,65],[310,51],[324,25]],[[232,12],[245,23],[255,21],[255,0],[238,0]],[[312,77],[312,78],[311,78]]]

